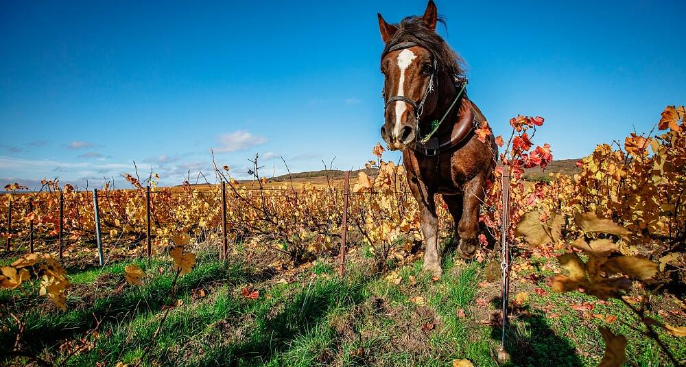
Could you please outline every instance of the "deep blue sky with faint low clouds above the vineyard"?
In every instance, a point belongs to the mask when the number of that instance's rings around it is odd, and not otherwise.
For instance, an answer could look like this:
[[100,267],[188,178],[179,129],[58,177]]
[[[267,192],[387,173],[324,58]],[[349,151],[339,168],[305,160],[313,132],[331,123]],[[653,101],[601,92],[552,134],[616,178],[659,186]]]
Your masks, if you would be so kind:
[[[648,131],[686,97],[683,1],[446,1],[440,33],[467,62],[495,134],[579,158]],[[166,184],[359,167],[381,141],[376,20],[425,1],[10,1],[0,10],[0,182],[82,185],[151,165]],[[398,154],[390,154],[397,158]]]

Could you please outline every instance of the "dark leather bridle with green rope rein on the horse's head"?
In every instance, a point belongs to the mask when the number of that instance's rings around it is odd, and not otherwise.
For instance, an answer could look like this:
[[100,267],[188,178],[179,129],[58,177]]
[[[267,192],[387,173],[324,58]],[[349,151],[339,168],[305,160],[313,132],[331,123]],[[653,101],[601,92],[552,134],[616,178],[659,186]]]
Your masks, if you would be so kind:
[[[385,58],[386,55],[390,54],[392,51],[398,51],[399,49],[407,49],[407,48],[414,47],[414,46],[418,46],[418,47],[422,47],[423,49],[427,49],[426,47],[424,47],[423,45],[420,45],[418,43],[401,42],[401,43],[397,43],[395,45],[388,47],[386,52],[384,52],[381,55],[381,59],[383,60],[383,58]],[[427,49],[427,50],[429,52],[431,52],[430,49]],[[416,122],[417,122],[417,137],[418,137],[417,144],[418,145],[426,145],[427,143],[429,143],[431,138],[438,131],[440,124],[446,119],[446,117],[448,117],[450,111],[457,104],[458,100],[462,96],[462,93],[464,93],[464,89],[466,88],[466,84],[467,84],[466,78],[460,77],[458,75],[453,75],[453,86],[455,86],[456,91],[458,91],[455,99],[453,99],[453,102],[450,104],[450,106],[445,111],[445,113],[443,114],[443,116],[441,117],[440,120],[434,120],[431,122],[431,131],[427,135],[425,135],[425,137],[421,137],[421,133],[419,132],[419,130],[420,130],[420,126],[421,126],[421,115],[424,113],[424,104],[426,102],[427,97],[429,97],[429,94],[431,92],[436,91],[435,86],[438,85],[436,83],[436,79],[437,79],[436,72],[438,71],[438,63],[436,61],[437,60],[436,55],[434,55],[433,52],[431,52],[431,58],[434,59],[433,67],[431,68],[431,75],[429,75],[429,82],[427,82],[427,87],[424,91],[424,95],[420,99],[419,103],[414,102],[413,99],[405,97],[404,95],[393,95],[393,96],[389,97],[388,99],[386,99],[386,104],[383,106],[384,111],[388,109],[388,106],[392,102],[405,102],[405,103],[409,104],[410,106],[412,106],[412,109],[414,110],[414,117],[415,117]],[[386,87],[381,89],[381,97],[386,98]]]

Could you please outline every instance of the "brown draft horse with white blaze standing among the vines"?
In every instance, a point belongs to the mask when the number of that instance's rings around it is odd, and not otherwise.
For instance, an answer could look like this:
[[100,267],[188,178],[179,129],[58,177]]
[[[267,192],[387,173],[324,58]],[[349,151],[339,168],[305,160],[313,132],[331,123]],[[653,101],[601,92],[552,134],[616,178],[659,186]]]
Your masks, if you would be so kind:
[[434,196],[442,194],[455,221],[451,246],[471,259],[497,145],[492,134],[482,142],[474,133],[486,119],[467,97],[462,60],[436,33],[442,19],[434,1],[429,0],[423,16],[408,16],[399,24],[388,24],[378,15],[386,44],[381,54],[381,73],[386,77],[381,137],[390,150],[403,151],[407,181],[421,210],[424,269],[440,276]]

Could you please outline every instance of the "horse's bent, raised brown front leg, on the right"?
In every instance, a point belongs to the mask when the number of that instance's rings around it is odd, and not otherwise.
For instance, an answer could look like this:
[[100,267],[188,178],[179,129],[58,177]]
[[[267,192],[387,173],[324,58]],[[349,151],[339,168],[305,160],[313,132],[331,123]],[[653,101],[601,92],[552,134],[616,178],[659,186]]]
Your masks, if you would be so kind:
[[462,217],[458,224],[460,244],[458,251],[464,259],[472,259],[478,247],[479,209],[484,200],[484,177],[479,175],[462,187]]

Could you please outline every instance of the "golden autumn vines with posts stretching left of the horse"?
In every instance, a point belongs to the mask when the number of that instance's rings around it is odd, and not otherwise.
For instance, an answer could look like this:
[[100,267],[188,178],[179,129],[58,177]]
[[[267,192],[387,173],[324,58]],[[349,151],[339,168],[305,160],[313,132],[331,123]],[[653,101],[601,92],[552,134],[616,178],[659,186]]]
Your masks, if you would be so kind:
[[[230,242],[245,241],[252,235],[255,237],[248,241],[265,241],[300,262],[331,248],[337,242],[333,237],[340,238],[340,250],[338,246],[336,250],[342,274],[346,229],[353,225],[365,232],[369,198],[374,194],[357,192],[359,187],[351,192],[350,171],[343,176],[344,180],[336,183],[329,178],[325,187],[305,184],[300,188],[289,182],[268,188],[263,185],[265,180],[253,182],[255,185],[222,180],[221,185],[181,187],[157,187],[151,180],[152,186],[142,186],[138,179],[127,176],[132,189],[111,189],[106,183],[100,190],[78,191],[71,185],[62,188],[59,182],[44,181],[36,193],[3,195],[5,207],[0,220],[6,226],[0,235],[6,238],[5,254],[10,257],[13,252],[34,252],[38,244],[39,250],[56,252],[62,261],[70,246],[88,251],[88,246],[73,246],[97,244],[101,266],[106,262],[103,243],[110,248],[121,247],[121,243],[135,246],[133,252],[150,260],[158,246],[165,248],[180,237],[194,235],[198,242],[221,244],[220,254],[226,258]],[[396,176],[394,204],[399,206],[397,213],[407,212],[409,192],[405,180]],[[349,200],[350,194],[355,199]],[[379,222],[384,220],[392,218],[379,217]],[[407,228],[407,232],[416,229]],[[369,239],[369,234],[365,236]],[[145,248],[138,244],[145,244]]]

